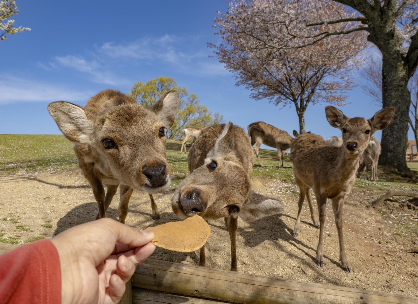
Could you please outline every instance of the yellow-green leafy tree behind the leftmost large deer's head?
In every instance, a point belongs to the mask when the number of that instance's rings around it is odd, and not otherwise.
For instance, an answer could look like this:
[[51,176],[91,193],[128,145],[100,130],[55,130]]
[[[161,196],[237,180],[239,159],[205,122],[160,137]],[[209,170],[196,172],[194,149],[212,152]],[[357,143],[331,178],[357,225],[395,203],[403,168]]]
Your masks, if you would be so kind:
[[189,94],[186,88],[178,87],[172,77],[157,77],[145,84],[135,82],[130,96],[143,107],[148,108],[170,90],[178,92],[180,105],[171,129],[167,130],[167,138],[181,138],[181,131],[185,127],[205,128],[224,121],[223,115],[219,113],[212,115],[206,106],[199,104],[199,98],[195,94]]

